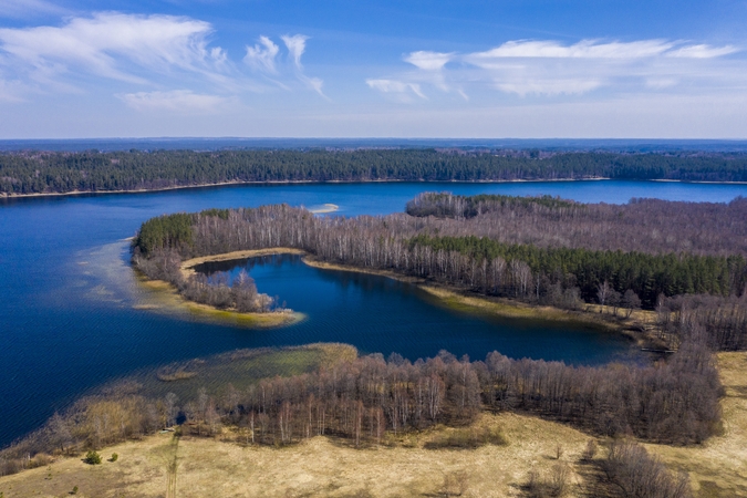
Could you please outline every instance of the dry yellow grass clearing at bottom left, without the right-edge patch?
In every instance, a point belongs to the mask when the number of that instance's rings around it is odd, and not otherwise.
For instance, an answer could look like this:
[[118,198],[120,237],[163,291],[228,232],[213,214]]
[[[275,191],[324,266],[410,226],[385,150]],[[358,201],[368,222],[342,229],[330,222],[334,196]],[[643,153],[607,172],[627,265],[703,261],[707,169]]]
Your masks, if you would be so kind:
[[[571,461],[588,439],[568,427],[513,414],[485,415],[478,427],[506,433],[510,444],[471,450],[425,449],[438,437],[438,428],[414,437],[415,445],[355,449],[349,442],[314,437],[280,449],[240,446],[232,434],[222,439],[181,437],[176,454],[178,497],[286,497],[286,496],[443,496],[444,486],[460,474],[464,496],[520,496],[530,468],[549,469],[557,463],[554,448],[566,445],[563,459]],[[536,436],[546,434],[539,440]],[[163,497],[174,461],[170,435],[126,443],[105,453],[120,455],[116,463],[87,466],[63,459],[45,468],[0,478],[7,498],[60,497],[79,486],[83,497]],[[52,478],[45,480],[48,474]],[[578,476],[573,476],[578,479]]]

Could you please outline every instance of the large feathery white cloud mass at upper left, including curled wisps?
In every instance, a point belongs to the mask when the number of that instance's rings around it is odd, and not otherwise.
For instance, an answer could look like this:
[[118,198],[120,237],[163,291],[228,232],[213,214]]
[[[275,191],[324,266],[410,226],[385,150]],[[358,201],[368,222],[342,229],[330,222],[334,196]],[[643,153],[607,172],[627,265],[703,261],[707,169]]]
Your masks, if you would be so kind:
[[[2,100],[20,102],[24,92],[80,93],[95,84],[111,85],[97,79],[131,86],[120,98],[138,110],[205,110],[218,102],[217,95],[264,92],[268,82],[292,90],[283,79],[298,80],[324,96],[323,81],[305,75],[301,64],[308,37],[282,37],[292,60],[292,69],[283,74],[278,68],[280,46],[269,37],[247,45],[245,64],[236,64],[226,50],[210,44],[212,33],[210,23],[191,18],[121,12],[73,17],[61,25],[0,28]],[[263,77],[256,80],[248,68]],[[189,90],[164,90],[175,86]]]

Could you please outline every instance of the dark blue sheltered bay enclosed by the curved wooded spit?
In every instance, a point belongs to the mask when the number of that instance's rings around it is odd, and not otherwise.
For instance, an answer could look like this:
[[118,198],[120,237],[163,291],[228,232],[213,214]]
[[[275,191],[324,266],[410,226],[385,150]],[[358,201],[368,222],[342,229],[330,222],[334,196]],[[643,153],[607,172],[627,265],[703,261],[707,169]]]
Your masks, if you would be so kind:
[[303,322],[264,333],[271,343],[345,342],[362,352],[397,352],[405,357],[434,356],[446,349],[484,359],[490,351],[512,357],[541,357],[599,364],[630,360],[629,343],[592,328],[500,319],[450,310],[409,283],[370,274],[320,270],[299,256],[282,255],[242,261],[206,263],[211,273],[243,269],[260,292],[280,297]]

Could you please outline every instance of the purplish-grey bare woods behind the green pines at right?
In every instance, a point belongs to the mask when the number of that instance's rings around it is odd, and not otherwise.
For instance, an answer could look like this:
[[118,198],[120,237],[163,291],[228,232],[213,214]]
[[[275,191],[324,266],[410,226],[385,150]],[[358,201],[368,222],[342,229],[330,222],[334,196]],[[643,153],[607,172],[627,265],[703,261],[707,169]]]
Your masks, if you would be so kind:
[[730,203],[632,199],[610,205],[549,196],[423,193],[407,203],[407,214],[459,220],[442,222],[442,235],[474,235],[506,243],[747,256],[747,199],[743,197]]

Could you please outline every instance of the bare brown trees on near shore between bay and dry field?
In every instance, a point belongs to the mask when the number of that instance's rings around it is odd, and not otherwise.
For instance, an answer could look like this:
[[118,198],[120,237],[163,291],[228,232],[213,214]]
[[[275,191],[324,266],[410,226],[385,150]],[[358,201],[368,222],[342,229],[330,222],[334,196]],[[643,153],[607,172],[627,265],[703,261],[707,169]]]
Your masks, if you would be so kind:
[[[230,382],[230,378],[227,378]],[[230,384],[194,398],[160,400],[124,385],[80,401],[64,416],[0,455],[0,475],[137,438],[179,423],[196,436],[239,427],[243,443],[288,445],[317,435],[355,446],[384,444],[387,434],[436,424],[464,426],[484,409],[533,413],[599,435],[634,435],[652,442],[699,443],[719,430],[722,386],[706,347],[688,341],[666,363],[641,367],[569,366],[511,360],[485,361],[442,352],[414,363],[397,354],[357,357],[311,373],[261,380],[246,391]],[[478,435],[479,436],[479,435]],[[496,442],[497,435],[471,443]],[[44,465],[44,464],[42,464]]]

